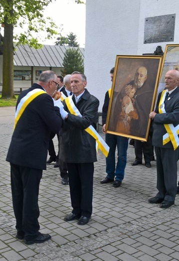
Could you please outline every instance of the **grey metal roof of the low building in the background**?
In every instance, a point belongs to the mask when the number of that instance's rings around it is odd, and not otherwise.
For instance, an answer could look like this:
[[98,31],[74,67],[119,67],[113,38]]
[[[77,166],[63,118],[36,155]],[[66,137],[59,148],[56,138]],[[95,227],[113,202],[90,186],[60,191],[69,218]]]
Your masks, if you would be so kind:
[[[64,53],[68,48],[77,47],[43,45],[41,49],[34,49],[28,45],[15,47],[13,65],[15,66],[35,66],[35,67],[63,67]],[[79,48],[81,56],[84,58],[84,48]]]

